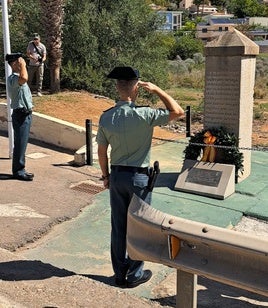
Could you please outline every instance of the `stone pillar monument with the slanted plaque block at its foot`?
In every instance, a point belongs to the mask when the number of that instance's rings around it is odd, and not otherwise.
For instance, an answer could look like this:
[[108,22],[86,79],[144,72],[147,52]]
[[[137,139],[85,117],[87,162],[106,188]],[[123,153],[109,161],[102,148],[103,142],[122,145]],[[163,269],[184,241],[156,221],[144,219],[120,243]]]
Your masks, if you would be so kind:
[[[258,53],[259,46],[235,29],[223,33],[205,46],[204,129],[225,127],[228,133],[238,138],[238,147],[243,148],[240,152],[244,157],[244,171],[238,174],[238,182],[247,178],[251,171],[251,151],[248,149],[252,146]],[[215,151],[218,151],[217,148]],[[222,199],[234,192],[234,175],[229,171],[231,165],[196,162],[185,160],[175,190]],[[195,168],[198,170],[193,170]],[[217,181],[216,177],[213,178],[213,185],[205,181],[210,174],[220,176]]]

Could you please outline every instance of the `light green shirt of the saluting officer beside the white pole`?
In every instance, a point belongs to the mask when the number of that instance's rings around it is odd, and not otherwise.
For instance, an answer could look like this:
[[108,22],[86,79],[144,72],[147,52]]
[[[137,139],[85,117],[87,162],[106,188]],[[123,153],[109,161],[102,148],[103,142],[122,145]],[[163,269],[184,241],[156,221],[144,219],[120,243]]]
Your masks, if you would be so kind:
[[7,79],[7,91],[11,99],[10,107],[12,109],[26,108],[32,109],[32,94],[27,83],[19,84],[19,75],[12,73]]

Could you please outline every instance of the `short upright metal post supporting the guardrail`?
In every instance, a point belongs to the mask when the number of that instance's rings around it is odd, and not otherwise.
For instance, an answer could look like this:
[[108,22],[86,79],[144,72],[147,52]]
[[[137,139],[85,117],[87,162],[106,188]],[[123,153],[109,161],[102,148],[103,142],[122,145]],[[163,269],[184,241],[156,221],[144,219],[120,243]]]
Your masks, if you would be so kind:
[[177,270],[176,308],[197,307],[197,275]]

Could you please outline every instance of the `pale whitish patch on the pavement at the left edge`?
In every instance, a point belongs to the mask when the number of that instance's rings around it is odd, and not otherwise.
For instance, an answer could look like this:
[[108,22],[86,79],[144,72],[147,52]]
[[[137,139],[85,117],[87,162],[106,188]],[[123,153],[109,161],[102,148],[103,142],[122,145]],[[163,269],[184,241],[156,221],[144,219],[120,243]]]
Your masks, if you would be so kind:
[[29,206],[21,203],[0,203],[0,217],[30,217],[30,218],[48,218],[49,216],[35,212]]

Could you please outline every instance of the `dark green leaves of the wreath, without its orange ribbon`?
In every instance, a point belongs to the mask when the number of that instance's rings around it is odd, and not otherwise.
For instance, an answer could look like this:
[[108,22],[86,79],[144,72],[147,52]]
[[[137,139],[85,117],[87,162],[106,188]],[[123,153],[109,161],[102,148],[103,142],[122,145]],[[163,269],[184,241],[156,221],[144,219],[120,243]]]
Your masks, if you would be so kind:
[[[220,148],[223,152],[221,155],[221,161],[215,161],[221,164],[235,165],[235,175],[238,177],[238,172],[243,174],[243,153],[240,153],[238,149],[238,138],[232,134],[228,133],[226,128],[208,128],[197,132],[195,135],[190,137],[189,145],[183,151],[185,154],[185,159],[197,160],[201,155],[201,150],[204,150],[206,144],[204,143],[204,134],[209,131],[217,139],[214,145],[227,146],[228,148]],[[198,143],[199,145],[195,145]],[[216,151],[217,151],[216,147]]]

